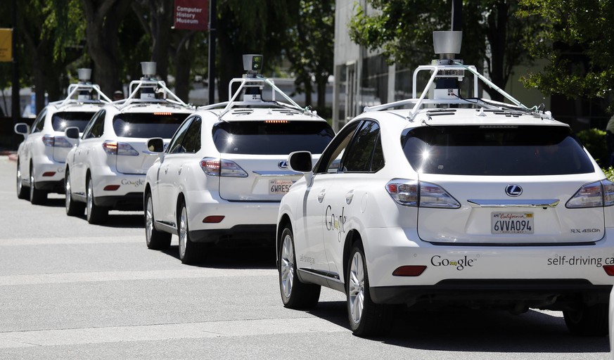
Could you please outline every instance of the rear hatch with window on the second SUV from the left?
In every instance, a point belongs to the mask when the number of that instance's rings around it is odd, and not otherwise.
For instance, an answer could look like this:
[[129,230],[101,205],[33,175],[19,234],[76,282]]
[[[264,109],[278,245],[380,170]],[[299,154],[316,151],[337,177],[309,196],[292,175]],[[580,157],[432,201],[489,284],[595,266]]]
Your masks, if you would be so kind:
[[[123,113],[113,119],[117,141],[105,148],[115,147],[117,171],[123,174],[146,174],[158,158],[148,151],[146,142],[159,137],[169,141],[188,113]],[[109,152],[109,151],[108,151]]]

